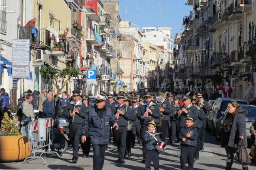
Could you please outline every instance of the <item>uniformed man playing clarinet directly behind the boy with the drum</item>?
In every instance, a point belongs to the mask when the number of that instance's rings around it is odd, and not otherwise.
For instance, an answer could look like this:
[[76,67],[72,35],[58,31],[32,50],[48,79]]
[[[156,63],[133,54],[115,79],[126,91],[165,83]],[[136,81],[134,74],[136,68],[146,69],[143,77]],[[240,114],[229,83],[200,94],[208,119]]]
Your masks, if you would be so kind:
[[[142,153],[143,153],[143,160],[141,163],[145,163],[146,159],[146,145],[144,141],[144,134],[148,130],[147,123],[154,120],[156,124],[160,123],[160,109],[158,104],[155,101],[152,101],[153,96],[151,93],[147,92],[145,95],[145,103],[140,104],[137,110],[137,118],[140,120],[141,128],[140,128],[140,135],[142,139]],[[151,116],[151,119],[144,119],[144,116]]]

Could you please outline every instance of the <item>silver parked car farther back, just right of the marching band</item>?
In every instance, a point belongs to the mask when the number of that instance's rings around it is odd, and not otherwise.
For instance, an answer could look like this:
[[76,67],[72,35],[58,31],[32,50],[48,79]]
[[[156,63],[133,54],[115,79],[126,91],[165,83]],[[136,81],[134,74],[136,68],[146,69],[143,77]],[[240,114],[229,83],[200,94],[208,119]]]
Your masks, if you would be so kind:
[[211,135],[216,134],[217,120],[224,114],[229,101],[237,101],[239,104],[248,104],[246,100],[239,98],[217,98],[207,113],[206,127],[211,129]]

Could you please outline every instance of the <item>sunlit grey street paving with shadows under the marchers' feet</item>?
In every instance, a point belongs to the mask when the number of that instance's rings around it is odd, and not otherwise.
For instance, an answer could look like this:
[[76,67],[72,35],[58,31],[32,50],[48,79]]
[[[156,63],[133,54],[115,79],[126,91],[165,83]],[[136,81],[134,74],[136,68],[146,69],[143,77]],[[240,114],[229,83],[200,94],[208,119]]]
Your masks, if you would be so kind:
[[[220,148],[219,142],[216,142],[214,137],[207,133],[205,139],[204,151],[200,152],[200,159],[194,163],[194,170],[224,170],[226,165],[226,153],[224,148]],[[76,170],[92,170],[92,150],[89,158],[79,157],[77,164],[72,164],[72,148],[61,156],[61,159],[55,155],[45,157],[48,165],[45,165],[41,159],[28,161],[24,164],[17,163],[0,163],[0,169],[76,169]],[[82,151],[79,151],[79,156],[82,156]],[[180,170],[180,147],[167,146],[165,152],[159,154],[161,170]],[[126,157],[125,164],[117,164],[115,161],[118,158],[117,147],[109,145],[106,151],[104,162],[104,170],[143,170],[144,164],[140,164],[142,159],[141,147],[136,145],[132,149],[132,157]],[[153,167],[152,167],[153,169]],[[232,170],[241,170],[242,166],[235,161]],[[249,170],[255,170],[256,165],[250,165]]]

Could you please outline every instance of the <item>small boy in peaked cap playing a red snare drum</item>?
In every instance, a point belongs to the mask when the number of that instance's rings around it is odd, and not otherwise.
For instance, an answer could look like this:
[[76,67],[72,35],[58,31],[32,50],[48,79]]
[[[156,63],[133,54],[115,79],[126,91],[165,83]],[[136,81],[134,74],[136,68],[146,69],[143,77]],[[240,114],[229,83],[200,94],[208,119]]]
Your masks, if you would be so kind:
[[159,155],[156,149],[156,140],[162,142],[159,135],[155,135],[156,132],[156,123],[154,120],[148,123],[148,130],[144,135],[144,141],[146,143],[146,161],[145,168],[150,170],[151,161],[153,161],[154,169],[159,170]]

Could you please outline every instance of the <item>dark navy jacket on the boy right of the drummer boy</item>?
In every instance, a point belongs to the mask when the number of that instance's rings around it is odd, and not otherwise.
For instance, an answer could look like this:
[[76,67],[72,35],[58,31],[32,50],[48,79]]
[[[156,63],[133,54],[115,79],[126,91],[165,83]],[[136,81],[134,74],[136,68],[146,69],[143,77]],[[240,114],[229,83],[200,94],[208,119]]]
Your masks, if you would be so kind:
[[[182,138],[185,138],[188,132],[191,134],[190,138],[186,138],[185,142],[182,141]],[[198,130],[194,126],[184,126],[179,135],[178,138],[181,140],[181,145],[190,145],[190,146],[196,146],[197,145],[197,138],[198,138]]]

